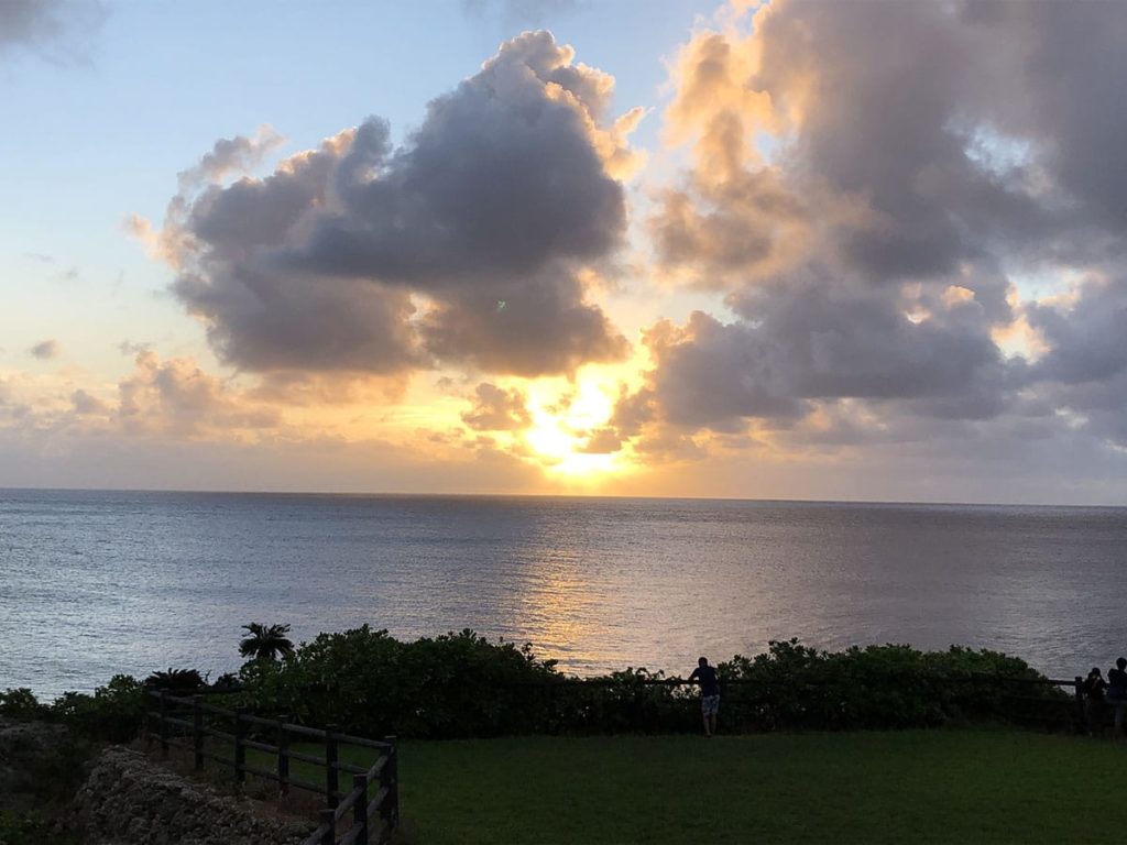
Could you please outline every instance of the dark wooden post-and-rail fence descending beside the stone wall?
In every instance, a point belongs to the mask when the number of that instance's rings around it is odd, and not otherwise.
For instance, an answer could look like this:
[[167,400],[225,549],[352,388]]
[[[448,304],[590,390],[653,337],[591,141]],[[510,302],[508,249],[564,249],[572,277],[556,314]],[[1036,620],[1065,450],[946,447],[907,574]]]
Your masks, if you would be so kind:
[[[263,719],[241,710],[229,710],[204,701],[203,695],[175,696],[168,690],[150,691],[156,710],[148,711],[147,736],[160,744],[161,756],[167,757],[169,748],[178,748],[192,754],[196,770],[204,767],[206,759],[230,768],[237,783],[243,783],[247,775],[275,781],[282,794],[291,788],[314,792],[326,798],[326,808],[320,812],[320,825],[304,845],[380,845],[387,843],[391,831],[399,824],[399,754],[396,737],[384,737],[382,741],[341,733],[336,726],[325,730],[291,724],[285,717]],[[216,724],[229,723],[230,731]],[[261,741],[273,737],[274,744]],[[292,740],[323,744],[325,756],[295,750]],[[214,747],[230,747],[231,756],[216,753]],[[340,759],[343,746],[357,746],[380,753],[379,759],[365,768]],[[247,749],[274,755],[274,770],[260,768],[247,763]],[[300,760],[325,768],[325,781],[313,783],[290,773],[291,760]],[[340,775],[352,775],[352,789],[343,792]],[[372,786],[378,788],[372,793]],[[337,829],[345,827],[346,817],[350,827],[337,837]],[[373,821],[378,818],[379,821]]]

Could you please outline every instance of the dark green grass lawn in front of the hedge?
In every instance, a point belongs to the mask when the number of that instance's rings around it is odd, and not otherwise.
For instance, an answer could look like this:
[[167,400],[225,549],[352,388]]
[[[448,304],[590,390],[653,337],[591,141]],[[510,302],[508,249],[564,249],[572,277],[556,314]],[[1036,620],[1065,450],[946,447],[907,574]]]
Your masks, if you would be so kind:
[[1120,843],[1125,785],[1127,745],[987,730],[405,742],[400,759],[411,845]]

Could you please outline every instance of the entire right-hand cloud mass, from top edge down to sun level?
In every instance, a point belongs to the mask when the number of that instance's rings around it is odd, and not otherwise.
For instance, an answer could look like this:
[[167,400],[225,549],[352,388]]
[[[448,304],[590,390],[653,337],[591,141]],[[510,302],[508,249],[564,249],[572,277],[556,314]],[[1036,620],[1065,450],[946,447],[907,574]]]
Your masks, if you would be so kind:
[[[1107,276],[1124,252],[1127,108],[1109,80],[1127,17],[1082,9],[774,0],[696,33],[665,124],[687,168],[647,226],[658,270],[722,292],[728,315],[646,333],[654,367],[615,430],[817,448],[1083,426],[1119,442],[1119,285],[1068,309],[1019,290],[1035,270]],[[999,347],[1020,332],[1040,359]]]

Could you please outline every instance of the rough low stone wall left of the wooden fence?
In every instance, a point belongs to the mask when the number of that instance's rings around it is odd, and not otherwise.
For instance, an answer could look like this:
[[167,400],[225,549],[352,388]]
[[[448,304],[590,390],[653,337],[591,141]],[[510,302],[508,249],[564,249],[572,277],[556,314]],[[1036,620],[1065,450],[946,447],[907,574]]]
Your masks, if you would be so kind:
[[143,755],[112,747],[74,797],[89,845],[300,845],[316,824],[272,817]]

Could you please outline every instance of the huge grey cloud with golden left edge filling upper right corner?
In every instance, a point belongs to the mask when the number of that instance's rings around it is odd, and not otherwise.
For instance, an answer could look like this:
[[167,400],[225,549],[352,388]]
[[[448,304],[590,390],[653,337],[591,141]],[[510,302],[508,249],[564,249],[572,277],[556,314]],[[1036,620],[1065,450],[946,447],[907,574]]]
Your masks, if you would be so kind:
[[[671,264],[746,277],[793,246],[798,216],[896,281],[1067,254],[1127,222],[1121,5],[784,1],[755,21],[683,57],[672,115],[698,161],[654,223]],[[748,163],[761,132],[775,152]]]

